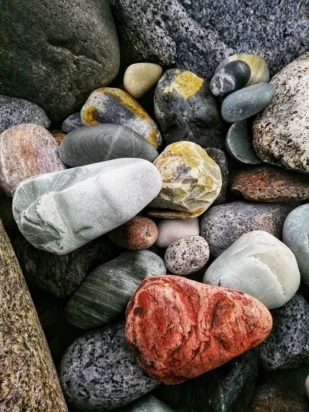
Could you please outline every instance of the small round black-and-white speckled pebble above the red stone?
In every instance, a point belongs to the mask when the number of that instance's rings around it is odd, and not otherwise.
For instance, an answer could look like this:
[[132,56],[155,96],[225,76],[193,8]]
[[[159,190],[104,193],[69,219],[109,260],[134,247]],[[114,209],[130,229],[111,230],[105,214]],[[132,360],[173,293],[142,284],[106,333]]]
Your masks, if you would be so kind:
[[164,262],[174,275],[190,275],[199,271],[209,259],[209,247],[201,236],[185,236],[166,249]]

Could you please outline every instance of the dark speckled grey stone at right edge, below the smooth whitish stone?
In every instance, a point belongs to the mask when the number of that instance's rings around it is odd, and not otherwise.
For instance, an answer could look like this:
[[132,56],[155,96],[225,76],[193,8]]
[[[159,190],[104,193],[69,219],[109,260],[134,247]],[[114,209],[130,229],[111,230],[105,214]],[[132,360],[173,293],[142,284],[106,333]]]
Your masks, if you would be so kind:
[[256,347],[266,370],[296,368],[309,359],[309,304],[298,293],[282,308],[272,310],[273,328]]

